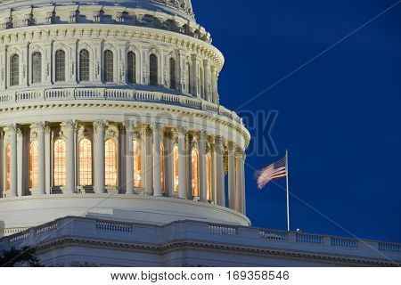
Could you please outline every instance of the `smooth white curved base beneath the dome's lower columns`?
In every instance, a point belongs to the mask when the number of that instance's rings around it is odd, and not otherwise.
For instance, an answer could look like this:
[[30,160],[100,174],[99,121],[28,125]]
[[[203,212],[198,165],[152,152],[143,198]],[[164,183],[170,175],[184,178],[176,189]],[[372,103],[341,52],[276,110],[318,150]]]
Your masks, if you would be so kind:
[[250,220],[230,208],[198,201],[139,195],[48,195],[0,199],[0,236],[45,224],[64,216],[88,216],[165,225],[192,220],[249,226]]

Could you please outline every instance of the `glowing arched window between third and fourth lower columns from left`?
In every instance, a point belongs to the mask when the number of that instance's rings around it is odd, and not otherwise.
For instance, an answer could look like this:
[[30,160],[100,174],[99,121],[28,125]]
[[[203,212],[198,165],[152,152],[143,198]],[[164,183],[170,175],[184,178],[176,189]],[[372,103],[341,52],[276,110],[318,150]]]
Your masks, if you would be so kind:
[[79,186],[92,185],[92,142],[79,142]]

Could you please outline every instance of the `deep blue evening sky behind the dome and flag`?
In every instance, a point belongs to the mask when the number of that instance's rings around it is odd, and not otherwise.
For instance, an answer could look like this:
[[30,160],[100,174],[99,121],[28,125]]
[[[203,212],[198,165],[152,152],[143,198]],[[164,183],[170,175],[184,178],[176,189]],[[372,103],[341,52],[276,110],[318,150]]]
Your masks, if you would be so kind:
[[[294,195],[358,238],[401,242],[401,4],[241,106],[396,2],[192,0],[225,54],[222,104],[279,111],[272,136],[280,155],[291,151]],[[250,131],[261,138],[261,126]],[[253,179],[275,159],[247,159],[248,216],[285,229],[285,192],[258,191]],[[297,199],[291,220],[303,232],[350,236]]]

